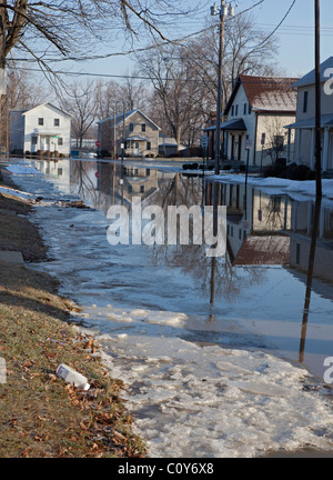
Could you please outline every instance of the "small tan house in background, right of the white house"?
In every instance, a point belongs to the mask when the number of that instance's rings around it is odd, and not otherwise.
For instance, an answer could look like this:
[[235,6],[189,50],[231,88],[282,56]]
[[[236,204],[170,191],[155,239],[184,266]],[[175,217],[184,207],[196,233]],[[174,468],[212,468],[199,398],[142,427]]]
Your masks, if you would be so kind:
[[158,127],[141,110],[119,113],[98,122],[99,151],[102,156],[120,156],[121,146],[127,157],[157,157],[159,154]]

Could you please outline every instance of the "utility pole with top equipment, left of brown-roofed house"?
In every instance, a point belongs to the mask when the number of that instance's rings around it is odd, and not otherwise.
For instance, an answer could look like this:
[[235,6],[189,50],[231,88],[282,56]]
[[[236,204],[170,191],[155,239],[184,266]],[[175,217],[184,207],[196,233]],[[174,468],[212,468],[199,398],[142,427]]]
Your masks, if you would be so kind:
[[[211,16],[218,14],[218,7],[211,7]],[[222,82],[223,82],[223,50],[226,16],[234,16],[234,7],[226,6],[225,0],[221,0],[220,27],[219,27],[219,74],[218,74],[218,101],[216,101],[216,131],[215,131],[215,174],[220,173],[221,157],[221,116],[222,116]]]

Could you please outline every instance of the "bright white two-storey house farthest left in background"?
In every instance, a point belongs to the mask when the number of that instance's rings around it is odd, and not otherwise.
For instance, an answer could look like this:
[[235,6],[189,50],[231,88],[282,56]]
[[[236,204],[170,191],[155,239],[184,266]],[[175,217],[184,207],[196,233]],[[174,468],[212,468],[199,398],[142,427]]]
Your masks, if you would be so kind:
[[51,103],[31,110],[13,110],[10,114],[10,151],[58,151],[69,156],[71,150],[71,116]]

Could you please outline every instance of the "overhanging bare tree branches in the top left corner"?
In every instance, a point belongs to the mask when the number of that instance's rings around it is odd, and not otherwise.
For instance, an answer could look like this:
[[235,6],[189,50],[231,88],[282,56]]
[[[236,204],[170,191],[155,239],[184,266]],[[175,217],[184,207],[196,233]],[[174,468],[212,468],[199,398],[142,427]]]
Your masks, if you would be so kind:
[[110,44],[119,28],[137,38],[143,27],[167,40],[164,22],[181,11],[185,14],[184,10],[175,0],[0,1],[0,68],[12,49],[23,50],[44,67],[59,53],[84,59],[95,54],[95,41]]

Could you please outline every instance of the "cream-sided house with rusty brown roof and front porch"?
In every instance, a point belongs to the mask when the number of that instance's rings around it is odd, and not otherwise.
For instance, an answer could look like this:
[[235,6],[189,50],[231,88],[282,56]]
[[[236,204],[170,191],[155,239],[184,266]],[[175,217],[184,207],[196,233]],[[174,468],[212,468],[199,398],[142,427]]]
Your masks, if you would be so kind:
[[[249,166],[269,164],[287,158],[287,121],[294,121],[296,91],[294,78],[253,77],[241,74],[223,112],[222,157],[225,162]],[[215,127],[205,131],[214,144]],[[212,152],[213,153],[213,152]],[[213,154],[212,154],[213,156]]]

